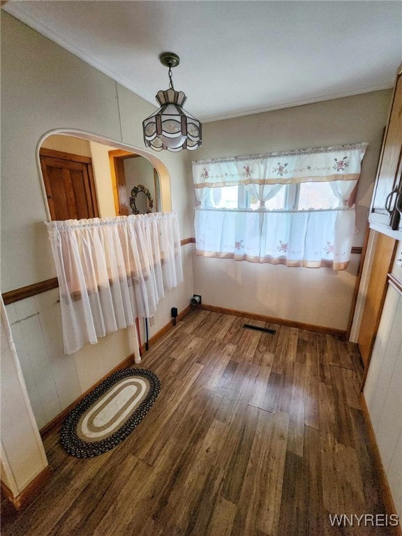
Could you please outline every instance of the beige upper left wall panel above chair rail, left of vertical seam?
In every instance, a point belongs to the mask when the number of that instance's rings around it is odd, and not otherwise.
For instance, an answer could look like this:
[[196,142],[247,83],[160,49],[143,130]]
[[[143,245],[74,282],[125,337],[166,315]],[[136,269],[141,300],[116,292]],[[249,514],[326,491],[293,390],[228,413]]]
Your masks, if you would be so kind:
[[1,43],[4,292],[55,275],[36,161],[40,138],[70,127],[119,140],[120,128],[113,80],[7,13],[1,14]]

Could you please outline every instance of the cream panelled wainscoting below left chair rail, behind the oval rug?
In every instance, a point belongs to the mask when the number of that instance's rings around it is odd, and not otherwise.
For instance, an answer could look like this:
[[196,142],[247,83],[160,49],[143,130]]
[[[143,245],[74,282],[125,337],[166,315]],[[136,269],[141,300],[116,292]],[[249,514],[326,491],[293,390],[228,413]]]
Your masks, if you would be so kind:
[[16,301],[6,311],[39,429],[119,364],[116,348],[124,347],[124,357],[131,354],[124,329],[86,345],[84,353],[64,355],[58,288]]

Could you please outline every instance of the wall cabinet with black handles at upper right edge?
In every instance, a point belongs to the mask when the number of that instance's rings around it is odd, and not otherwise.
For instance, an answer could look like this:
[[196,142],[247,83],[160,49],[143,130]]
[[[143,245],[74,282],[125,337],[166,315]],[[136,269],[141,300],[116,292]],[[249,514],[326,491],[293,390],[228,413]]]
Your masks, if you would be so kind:
[[402,239],[402,65],[399,67],[389,121],[375,180],[370,227]]

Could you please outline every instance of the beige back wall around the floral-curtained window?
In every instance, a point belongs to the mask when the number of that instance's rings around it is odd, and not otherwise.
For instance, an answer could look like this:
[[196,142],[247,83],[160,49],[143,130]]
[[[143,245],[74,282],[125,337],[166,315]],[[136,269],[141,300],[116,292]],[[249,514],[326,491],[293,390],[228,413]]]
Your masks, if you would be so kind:
[[[203,125],[192,160],[368,142],[357,193],[354,245],[362,246],[382,131],[392,91],[254,114]],[[190,179],[191,180],[191,179]],[[191,181],[191,207],[195,195]],[[193,218],[194,211],[191,211]],[[193,254],[194,292],[205,304],[346,329],[359,255],[345,271],[254,265]]]

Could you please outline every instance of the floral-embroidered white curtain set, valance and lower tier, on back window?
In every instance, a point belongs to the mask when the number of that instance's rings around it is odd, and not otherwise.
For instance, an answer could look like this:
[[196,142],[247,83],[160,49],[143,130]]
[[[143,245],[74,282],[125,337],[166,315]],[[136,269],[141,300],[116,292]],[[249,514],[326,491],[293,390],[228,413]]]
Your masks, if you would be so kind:
[[[367,144],[193,162],[198,255],[292,267],[345,269],[355,232],[353,208]],[[269,211],[286,184],[328,182],[337,206]],[[244,186],[259,208],[216,208],[221,189]]]

